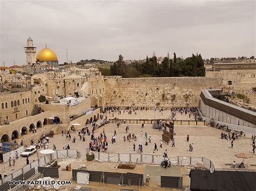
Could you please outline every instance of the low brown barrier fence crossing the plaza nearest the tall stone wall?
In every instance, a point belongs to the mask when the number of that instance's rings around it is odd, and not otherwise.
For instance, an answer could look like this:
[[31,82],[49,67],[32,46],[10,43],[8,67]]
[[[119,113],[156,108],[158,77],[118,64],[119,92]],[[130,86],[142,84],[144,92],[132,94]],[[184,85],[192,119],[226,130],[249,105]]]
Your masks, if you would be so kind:
[[[176,120],[171,121],[169,119],[158,119],[165,122],[173,122],[174,125],[206,125],[205,121],[193,121],[193,120]],[[154,124],[156,120],[154,119],[109,119],[109,123],[127,123],[127,124]]]

